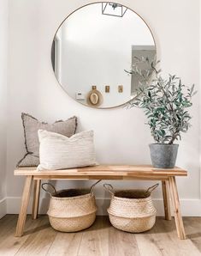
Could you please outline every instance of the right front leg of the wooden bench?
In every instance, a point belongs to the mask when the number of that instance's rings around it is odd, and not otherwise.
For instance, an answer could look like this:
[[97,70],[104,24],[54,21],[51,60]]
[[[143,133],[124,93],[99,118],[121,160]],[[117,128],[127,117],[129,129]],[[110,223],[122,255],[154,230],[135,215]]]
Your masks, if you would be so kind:
[[174,221],[176,224],[177,234],[180,239],[186,239],[184,224],[180,211],[180,199],[177,192],[175,177],[169,177],[169,186],[172,197],[172,204],[174,206]]

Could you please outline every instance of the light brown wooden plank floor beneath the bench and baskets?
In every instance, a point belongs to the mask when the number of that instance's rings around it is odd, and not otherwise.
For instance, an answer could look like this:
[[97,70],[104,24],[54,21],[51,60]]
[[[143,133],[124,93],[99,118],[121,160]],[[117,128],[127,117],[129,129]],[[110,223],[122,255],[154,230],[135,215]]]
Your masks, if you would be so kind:
[[187,239],[180,241],[174,220],[157,218],[153,229],[143,234],[129,234],[109,224],[107,216],[98,216],[90,229],[78,233],[60,233],[51,229],[48,217],[33,221],[27,217],[26,233],[15,237],[17,216],[0,220],[0,255],[68,256],[194,256],[201,255],[201,217],[185,217]]

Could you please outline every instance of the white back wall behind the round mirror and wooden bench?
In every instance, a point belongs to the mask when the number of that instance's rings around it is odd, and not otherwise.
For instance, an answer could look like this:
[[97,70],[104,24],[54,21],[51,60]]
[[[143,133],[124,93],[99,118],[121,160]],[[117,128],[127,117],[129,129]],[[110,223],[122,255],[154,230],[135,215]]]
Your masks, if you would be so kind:
[[[23,179],[14,177],[15,163],[24,154],[21,112],[54,121],[79,117],[80,130],[93,129],[98,162],[150,163],[148,144],[152,142],[139,109],[98,110],[76,103],[56,82],[51,68],[50,47],[57,27],[80,5],[89,1],[10,0],[9,4],[9,126],[8,126],[8,212],[16,212]],[[121,0],[147,21],[157,40],[158,58],[167,73],[176,73],[183,82],[194,82],[199,90],[199,1]],[[200,215],[199,95],[192,107],[192,128],[183,135],[177,165],[189,171],[178,178],[185,215]],[[68,185],[63,182],[62,185]],[[80,184],[81,181],[73,182]],[[146,182],[112,182],[115,187],[147,186]],[[87,184],[87,182],[83,182]],[[98,198],[105,193],[100,185]],[[108,196],[108,195],[107,195]],[[154,193],[158,207],[161,190]]]

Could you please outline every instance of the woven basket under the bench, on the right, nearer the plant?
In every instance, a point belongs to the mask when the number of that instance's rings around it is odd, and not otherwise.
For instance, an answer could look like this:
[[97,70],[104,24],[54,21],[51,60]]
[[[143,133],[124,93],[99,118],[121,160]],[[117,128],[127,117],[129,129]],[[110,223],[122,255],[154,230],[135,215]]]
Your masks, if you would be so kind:
[[154,226],[157,210],[151,200],[151,192],[158,184],[147,190],[124,191],[114,191],[109,184],[103,186],[112,194],[108,213],[109,221],[116,229],[140,233]]

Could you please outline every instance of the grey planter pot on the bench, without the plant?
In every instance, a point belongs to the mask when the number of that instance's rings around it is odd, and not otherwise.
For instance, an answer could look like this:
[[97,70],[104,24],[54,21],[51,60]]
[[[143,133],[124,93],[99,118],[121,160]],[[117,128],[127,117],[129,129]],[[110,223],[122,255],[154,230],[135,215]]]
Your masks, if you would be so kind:
[[150,144],[153,167],[174,168],[178,147],[178,144]]

